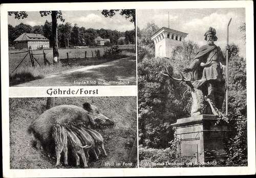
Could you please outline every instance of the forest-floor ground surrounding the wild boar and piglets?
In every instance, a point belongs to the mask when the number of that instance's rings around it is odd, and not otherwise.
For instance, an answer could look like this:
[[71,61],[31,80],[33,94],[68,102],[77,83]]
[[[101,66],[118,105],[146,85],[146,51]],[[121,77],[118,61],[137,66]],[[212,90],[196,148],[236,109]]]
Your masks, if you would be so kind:
[[[131,154],[137,137],[136,97],[57,97],[56,105],[68,104],[82,106],[89,102],[99,108],[105,116],[115,122],[113,127],[96,129],[104,138],[108,156],[99,161],[89,161],[89,168],[121,168],[123,162],[137,164],[136,155]],[[32,147],[33,136],[27,133],[29,125],[46,110],[46,98],[10,98],[10,169],[49,169],[55,168],[56,160],[48,157],[42,150]],[[9,154],[9,153],[7,153]],[[121,166],[107,167],[105,163],[121,163]],[[130,166],[129,166],[130,167]],[[59,168],[81,168],[60,166]],[[127,168],[127,167],[126,167]]]

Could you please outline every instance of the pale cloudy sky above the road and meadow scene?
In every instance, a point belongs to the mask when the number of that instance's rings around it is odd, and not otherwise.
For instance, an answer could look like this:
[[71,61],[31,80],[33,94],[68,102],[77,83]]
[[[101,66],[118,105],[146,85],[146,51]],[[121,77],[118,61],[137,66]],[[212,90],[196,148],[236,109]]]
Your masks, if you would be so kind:
[[[104,17],[101,14],[102,10],[94,11],[62,11],[62,16],[65,18],[65,23],[69,22],[72,25],[77,24],[79,27],[94,28],[94,29],[110,29],[118,31],[133,30],[134,23],[129,19],[125,19],[119,12],[113,17]],[[31,26],[44,25],[45,21],[52,22],[51,15],[41,17],[39,12],[27,11],[28,17],[24,19],[15,19],[14,16],[8,16],[8,24],[16,26],[20,23]],[[60,21],[57,21],[60,24]]]

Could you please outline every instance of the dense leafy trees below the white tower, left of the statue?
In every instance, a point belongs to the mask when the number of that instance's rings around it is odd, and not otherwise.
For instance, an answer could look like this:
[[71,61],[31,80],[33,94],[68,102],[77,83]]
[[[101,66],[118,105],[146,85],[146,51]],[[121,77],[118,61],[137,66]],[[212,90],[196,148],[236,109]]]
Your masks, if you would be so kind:
[[174,134],[170,124],[177,118],[189,116],[191,101],[189,94],[183,97],[188,89],[185,84],[179,85],[161,73],[166,67],[170,74],[179,75],[189,64],[187,56],[194,56],[198,46],[192,42],[177,46],[174,53],[179,51],[179,55],[175,53],[172,58],[154,58],[153,54],[148,57],[148,46],[138,50],[138,57],[144,55],[138,64],[139,142],[144,146],[166,148]]

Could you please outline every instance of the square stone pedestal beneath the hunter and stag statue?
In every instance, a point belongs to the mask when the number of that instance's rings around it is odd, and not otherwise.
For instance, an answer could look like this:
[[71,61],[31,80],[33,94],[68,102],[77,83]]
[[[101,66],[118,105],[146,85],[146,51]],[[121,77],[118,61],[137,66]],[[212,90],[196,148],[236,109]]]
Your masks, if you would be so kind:
[[197,115],[173,124],[179,139],[178,151],[183,158],[193,163],[224,159],[229,129],[224,123],[215,126],[217,121],[215,115]]

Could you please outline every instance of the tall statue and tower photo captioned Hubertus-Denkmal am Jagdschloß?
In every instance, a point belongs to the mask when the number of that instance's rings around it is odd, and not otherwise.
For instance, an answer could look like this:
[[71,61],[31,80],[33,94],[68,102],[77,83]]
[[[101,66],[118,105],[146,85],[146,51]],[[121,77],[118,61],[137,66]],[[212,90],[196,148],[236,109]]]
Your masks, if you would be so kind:
[[137,19],[139,166],[247,166],[245,9]]

